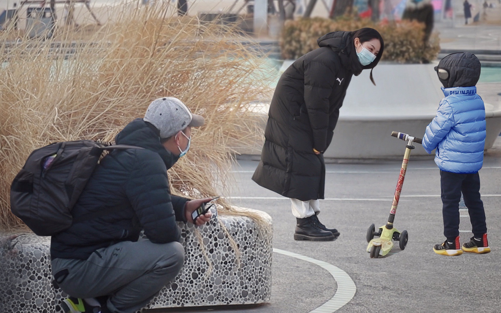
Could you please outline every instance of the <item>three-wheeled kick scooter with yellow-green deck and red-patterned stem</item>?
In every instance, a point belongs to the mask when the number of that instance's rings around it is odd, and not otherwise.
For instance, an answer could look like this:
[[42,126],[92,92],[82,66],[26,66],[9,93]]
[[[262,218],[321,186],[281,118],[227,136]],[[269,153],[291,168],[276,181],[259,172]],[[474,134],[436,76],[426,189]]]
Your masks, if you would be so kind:
[[[391,135],[393,137],[397,137],[404,141],[407,141],[407,145],[405,146],[405,154],[404,160],[402,162],[402,168],[400,169],[400,176],[398,177],[397,187],[395,189],[395,195],[393,196],[393,202],[391,204],[390,217],[388,217],[388,222],[386,225],[379,227],[379,230],[376,231],[376,227],[374,224],[369,226],[367,229],[367,252],[370,253],[371,258],[378,258],[379,256],[385,256],[390,252],[393,248],[392,239],[399,242],[399,247],[401,250],[405,249],[407,245],[407,240],[409,239],[409,235],[407,234],[407,230],[402,232],[398,231],[395,227],[393,227],[393,220],[395,219],[395,213],[397,211],[398,200],[400,199],[400,192],[402,191],[402,185],[404,183],[405,171],[407,170],[407,164],[409,163],[410,151],[415,148],[412,144],[414,142],[421,143],[421,138],[412,137],[407,134],[392,132]],[[374,239],[374,236],[378,236],[379,238]]]

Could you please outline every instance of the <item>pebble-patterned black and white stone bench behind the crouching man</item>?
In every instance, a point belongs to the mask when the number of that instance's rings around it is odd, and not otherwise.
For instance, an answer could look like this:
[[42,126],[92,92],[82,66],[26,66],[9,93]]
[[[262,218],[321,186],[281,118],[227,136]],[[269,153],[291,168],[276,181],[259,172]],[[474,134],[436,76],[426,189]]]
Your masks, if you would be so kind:
[[[176,279],[165,286],[148,308],[209,306],[268,302],[271,296],[272,232],[271,217],[259,213],[266,227],[246,216],[218,215],[209,224],[196,228],[179,223],[186,258]],[[240,262],[219,220],[240,251]],[[268,229],[268,230],[266,230]],[[19,241],[13,246],[16,241]],[[34,234],[12,242],[0,235],[0,312],[59,313],[67,295],[52,286],[50,237]],[[212,270],[209,268],[212,267]]]

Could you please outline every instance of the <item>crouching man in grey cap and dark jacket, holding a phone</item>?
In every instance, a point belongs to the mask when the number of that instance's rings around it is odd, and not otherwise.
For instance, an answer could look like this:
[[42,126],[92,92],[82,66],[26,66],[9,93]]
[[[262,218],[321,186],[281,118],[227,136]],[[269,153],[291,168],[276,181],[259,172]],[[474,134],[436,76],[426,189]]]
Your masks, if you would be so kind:
[[179,273],[176,221],[193,222],[191,213],[210,199],[171,195],[167,170],[188,152],[191,127],[203,124],[180,100],[160,98],[115,137],[142,149],[103,158],[72,210],[73,225],[52,237],[52,273],[70,295],[65,312],[134,312]]

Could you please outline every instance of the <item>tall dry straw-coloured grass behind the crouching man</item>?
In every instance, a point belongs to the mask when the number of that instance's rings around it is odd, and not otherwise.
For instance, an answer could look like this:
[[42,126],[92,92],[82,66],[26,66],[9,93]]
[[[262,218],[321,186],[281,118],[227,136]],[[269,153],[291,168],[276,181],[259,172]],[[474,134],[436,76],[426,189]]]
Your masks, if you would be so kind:
[[[122,8],[128,13],[85,42],[78,40],[77,32],[61,29],[49,40],[2,46],[4,229],[22,224],[10,212],[9,188],[32,150],[56,141],[113,140],[127,123],[144,116],[152,100],[164,96],[181,99],[206,121],[193,129],[190,152],[169,170],[173,192],[211,196],[228,186],[231,147],[262,136],[248,103],[269,91],[259,75],[266,60],[249,52],[229,27],[166,16],[168,6]],[[5,43],[2,36],[12,34],[0,35]],[[65,58],[66,48],[56,45],[59,41],[76,43],[76,52]],[[220,213],[241,214],[224,200],[218,203],[224,206]]]

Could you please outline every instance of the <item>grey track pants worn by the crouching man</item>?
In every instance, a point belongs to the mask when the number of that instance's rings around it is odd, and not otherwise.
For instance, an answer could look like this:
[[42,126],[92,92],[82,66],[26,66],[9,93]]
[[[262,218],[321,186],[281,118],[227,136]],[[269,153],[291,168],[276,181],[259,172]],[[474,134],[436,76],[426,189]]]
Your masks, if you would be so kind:
[[87,260],[57,258],[51,264],[53,274],[68,269],[59,283],[66,293],[79,298],[110,295],[107,306],[112,312],[131,313],[146,306],[183,263],[179,242],[140,239],[98,249]]

